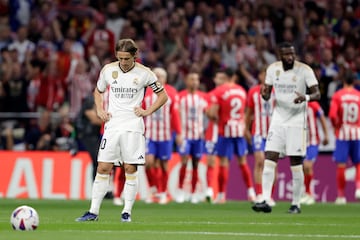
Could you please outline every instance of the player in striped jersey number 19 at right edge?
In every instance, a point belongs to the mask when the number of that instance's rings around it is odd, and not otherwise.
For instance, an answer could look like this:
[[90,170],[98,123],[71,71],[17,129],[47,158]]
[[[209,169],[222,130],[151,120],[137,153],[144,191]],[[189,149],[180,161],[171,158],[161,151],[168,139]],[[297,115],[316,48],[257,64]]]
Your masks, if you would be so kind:
[[346,204],[345,169],[348,157],[356,169],[355,198],[360,199],[360,92],[354,88],[356,75],[349,72],[344,79],[344,87],[332,96],[329,118],[335,130],[337,198],[336,204]]

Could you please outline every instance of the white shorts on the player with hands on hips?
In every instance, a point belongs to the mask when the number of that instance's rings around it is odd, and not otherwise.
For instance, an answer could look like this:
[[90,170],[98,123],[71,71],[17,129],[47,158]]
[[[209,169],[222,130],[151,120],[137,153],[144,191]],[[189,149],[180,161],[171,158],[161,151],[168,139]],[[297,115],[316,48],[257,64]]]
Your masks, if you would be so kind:
[[144,135],[140,132],[105,131],[97,160],[115,165],[145,164]]

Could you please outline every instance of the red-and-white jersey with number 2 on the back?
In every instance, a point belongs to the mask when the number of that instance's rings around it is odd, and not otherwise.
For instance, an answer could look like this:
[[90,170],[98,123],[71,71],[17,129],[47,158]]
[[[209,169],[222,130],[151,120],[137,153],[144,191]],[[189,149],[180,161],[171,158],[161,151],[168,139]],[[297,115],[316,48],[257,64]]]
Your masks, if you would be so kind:
[[219,135],[223,137],[243,137],[245,131],[245,108],[247,94],[237,84],[223,84],[216,87],[211,103],[219,106]]

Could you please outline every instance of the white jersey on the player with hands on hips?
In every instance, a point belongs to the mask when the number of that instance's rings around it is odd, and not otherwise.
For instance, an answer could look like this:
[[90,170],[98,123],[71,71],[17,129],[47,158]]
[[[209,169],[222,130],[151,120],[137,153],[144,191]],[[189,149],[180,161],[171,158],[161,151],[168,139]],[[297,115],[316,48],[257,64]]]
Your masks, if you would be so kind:
[[156,75],[140,63],[135,63],[133,69],[123,72],[119,62],[105,65],[99,75],[97,88],[105,92],[109,86],[108,112],[111,119],[105,123],[105,131],[121,130],[144,133],[144,120],[134,113],[135,107],[140,107],[147,86],[162,89]]

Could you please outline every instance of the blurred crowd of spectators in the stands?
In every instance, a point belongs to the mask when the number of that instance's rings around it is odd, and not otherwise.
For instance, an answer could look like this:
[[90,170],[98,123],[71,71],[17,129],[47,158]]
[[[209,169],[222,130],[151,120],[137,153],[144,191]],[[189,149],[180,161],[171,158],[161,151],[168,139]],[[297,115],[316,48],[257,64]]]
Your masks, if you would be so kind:
[[248,90],[276,44],[292,42],[318,74],[327,113],[343,72],[360,79],[359,19],[358,1],[341,0],[0,1],[0,149],[70,150],[82,102],[121,38],[177,90],[197,69],[206,92],[219,67]]

